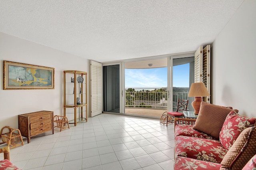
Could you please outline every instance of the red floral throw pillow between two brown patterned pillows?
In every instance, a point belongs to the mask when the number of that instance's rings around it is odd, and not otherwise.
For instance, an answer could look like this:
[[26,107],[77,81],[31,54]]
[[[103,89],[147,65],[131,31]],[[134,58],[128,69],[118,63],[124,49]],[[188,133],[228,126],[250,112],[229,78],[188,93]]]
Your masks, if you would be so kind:
[[220,143],[226,150],[229,150],[232,144],[236,141],[239,134],[248,127],[253,127],[256,118],[250,118],[242,115],[237,115],[231,111],[220,131]]

